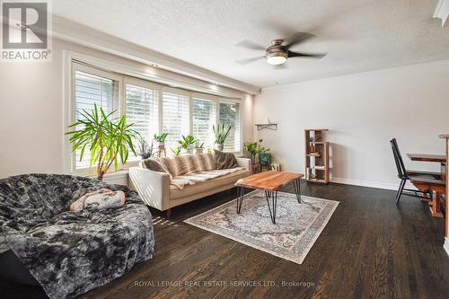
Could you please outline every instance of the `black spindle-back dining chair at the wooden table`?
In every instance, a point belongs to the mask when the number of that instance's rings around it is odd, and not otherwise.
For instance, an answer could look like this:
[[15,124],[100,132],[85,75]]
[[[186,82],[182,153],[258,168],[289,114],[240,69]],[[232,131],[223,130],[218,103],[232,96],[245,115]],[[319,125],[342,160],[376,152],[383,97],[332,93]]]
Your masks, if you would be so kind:
[[[402,161],[401,152],[399,151],[399,146],[396,141],[396,138],[392,138],[390,140],[390,144],[392,145],[392,153],[394,157],[394,162],[396,163],[396,169],[398,170],[398,178],[401,179],[401,183],[399,185],[398,193],[396,194],[396,205],[399,203],[401,199],[401,195],[405,194],[415,198],[427,198],[428,200],[432,199],[431,190],[427,191],[419,191],[417,189],[405,189],[405,183],[407,180],[427,180],[427,179],[440,179],[441,173],[438,172],[430,172],[430,171],[409,171],[405,168],[404,162]],[[404,191],[408,191],[411,193],[404,193]]]

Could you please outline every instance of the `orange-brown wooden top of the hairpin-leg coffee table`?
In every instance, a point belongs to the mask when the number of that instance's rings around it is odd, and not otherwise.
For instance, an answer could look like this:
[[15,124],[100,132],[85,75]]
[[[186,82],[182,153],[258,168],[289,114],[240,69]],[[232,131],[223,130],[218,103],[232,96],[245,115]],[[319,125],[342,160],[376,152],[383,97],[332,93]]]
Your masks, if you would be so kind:
[[299,180],[302,177],[304,177],[304,174],[302,173],[285,171],[264,171],[237,180],[235,186],[276,191],[277,189],[286,186],[286,184],[288,184],[289,182],[293,180]]

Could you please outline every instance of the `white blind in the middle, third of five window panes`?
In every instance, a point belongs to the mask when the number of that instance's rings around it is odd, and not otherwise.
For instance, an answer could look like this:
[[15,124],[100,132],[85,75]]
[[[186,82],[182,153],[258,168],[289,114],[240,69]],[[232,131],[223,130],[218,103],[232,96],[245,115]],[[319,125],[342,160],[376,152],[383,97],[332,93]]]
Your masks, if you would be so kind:
[[179,146],[182,135],[189,135],[189,122],[189,96],[163,92],[163,132],[169,133],[165,140],[167,154]]

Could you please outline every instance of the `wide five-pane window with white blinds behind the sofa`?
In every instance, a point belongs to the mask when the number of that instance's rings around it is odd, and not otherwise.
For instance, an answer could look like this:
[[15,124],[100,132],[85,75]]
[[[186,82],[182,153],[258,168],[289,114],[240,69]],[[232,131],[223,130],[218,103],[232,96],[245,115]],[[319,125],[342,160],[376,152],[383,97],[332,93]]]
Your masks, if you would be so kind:
[[[155,133],[168,132],[165,146],[170,155],[171,149],[179,146],[178,140],[187,135],[195,136],[200,144],[204,143],[205,148],[213,147],[213,126],[224,122],[232,126],[225,142],[225,151],[241,151],[241,106],[238,100],[154,84],[128,75],[102,71],[76,61],[72,66],[72,99],[67,105],[70,108],[67,111],[70,119],[67,126],[76,119],[83,119],[80,111],[91,112],[96,104],[107,113],[117,111],[115,117],[127,115],[127,122],[134,123],[136,131],[149,144]],[[135,145],[138,149],[137,140]],[[92,174],[95,165],[92,168],[89,165],[89,149],[84,149],[81,162],[80,154],[79,150],[70,155],[72,172]],[[136,165],[138,160],[139,157],[129,154],[129,164],[125,167]]]

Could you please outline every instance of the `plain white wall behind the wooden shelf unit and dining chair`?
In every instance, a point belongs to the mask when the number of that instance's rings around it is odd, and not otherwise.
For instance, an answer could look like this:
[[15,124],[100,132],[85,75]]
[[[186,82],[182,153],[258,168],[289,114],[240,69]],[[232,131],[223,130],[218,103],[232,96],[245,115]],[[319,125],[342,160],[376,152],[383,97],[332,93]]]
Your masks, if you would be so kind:
[[389,140],[398,139],[409,169],[439,170],[410,162],[406,153],[445,154],[438,134],[449,132],[449,61],[263,89],[255,122],[286,171],[304,173],[304,129],[329,128],[334,181],[397,189]]

